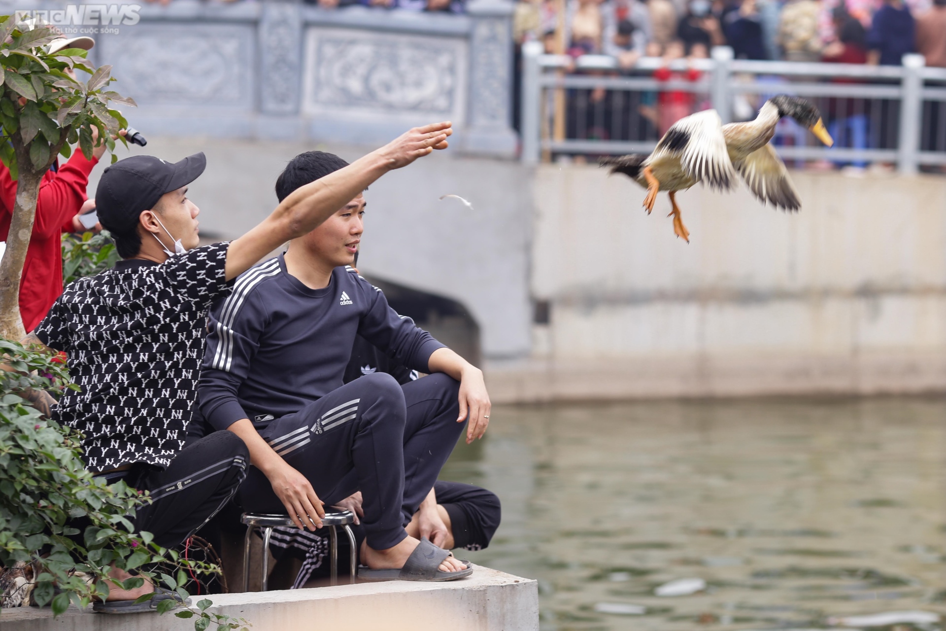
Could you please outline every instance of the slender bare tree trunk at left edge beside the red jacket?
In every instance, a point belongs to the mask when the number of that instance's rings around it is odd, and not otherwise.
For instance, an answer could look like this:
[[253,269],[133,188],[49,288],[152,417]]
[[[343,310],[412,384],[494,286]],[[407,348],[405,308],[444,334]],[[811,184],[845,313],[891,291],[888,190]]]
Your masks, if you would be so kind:
[[0,337],[16,342],[26,335],[20,316],[20,276],[23,275],[29,237],[33,234],[36,202],[43,181],[43,173],[33,172],[28,154],[24,156],[26,159],[20,159],[25,153],[17,150],[20,177],[16,183],[13,217],[9,222],[7,251],[0,260]]

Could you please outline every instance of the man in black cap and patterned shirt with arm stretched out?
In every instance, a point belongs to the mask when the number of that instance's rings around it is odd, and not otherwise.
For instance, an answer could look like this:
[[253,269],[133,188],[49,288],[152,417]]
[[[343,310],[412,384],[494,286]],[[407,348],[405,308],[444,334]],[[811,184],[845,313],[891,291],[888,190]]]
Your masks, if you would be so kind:
[[[69,358],[79,392],[66,391],[51,416],[83,432],[84,459],[109,481],[150,491],[135,530],[165,547],[197,532],[245,476],[249,452],[235,433],[216,432],[184,447],[203,355],[207,309],[228,281],[289,239],[333,215],[377,178],[433,149],[446,149],[450,123],[407,131],[349,167],[296,190],[272,215],[232,242],[199,245],[200,210],[187,184],[203,172],[202,153],[170,164],[133,156],[105,169],[96,190],[98,218],[122,259],[113,270],[65,289],[26,342]],[[303,516],[321,526],[324,511]],[[128,577],[114,570],[114,577]],[[148,609],[172,597],[113,589],[96,609]]]

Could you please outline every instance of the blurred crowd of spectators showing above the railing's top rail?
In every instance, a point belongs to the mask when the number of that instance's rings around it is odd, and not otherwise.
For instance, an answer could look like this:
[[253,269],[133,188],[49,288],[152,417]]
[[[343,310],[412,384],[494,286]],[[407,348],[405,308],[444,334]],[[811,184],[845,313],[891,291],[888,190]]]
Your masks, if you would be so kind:
[[[564,15],[559,15],[564,12]],[[918,52],[946,67],[946,0],[519,0],[517,44],[547,52],[897,65]]]

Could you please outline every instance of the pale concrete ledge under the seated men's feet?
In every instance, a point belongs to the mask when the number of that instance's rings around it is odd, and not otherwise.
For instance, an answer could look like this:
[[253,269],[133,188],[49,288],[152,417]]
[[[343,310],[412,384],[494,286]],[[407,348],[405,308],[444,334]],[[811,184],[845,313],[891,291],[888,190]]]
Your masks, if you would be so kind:
[[[537,631],[534,580],[478,567],[448,583],[365,583],[315,589],[217,594],[210,611],[245,618],[253,631]],[[193,620],[170,614],[112,616],[71,608],[54,619],[48,608],[5,609],[3,631],[190,631]]]

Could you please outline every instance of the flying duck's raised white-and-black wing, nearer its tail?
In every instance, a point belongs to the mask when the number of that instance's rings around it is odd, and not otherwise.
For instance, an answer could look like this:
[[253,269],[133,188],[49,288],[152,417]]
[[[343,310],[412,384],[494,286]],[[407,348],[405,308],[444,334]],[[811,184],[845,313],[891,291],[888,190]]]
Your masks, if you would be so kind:
[[723,121],[715,110],[705,110],[676,121],[660,142],[659,151],[680,155],[683,170],[699,182],[726,190],[735,185],[736,172],[729,161]]

